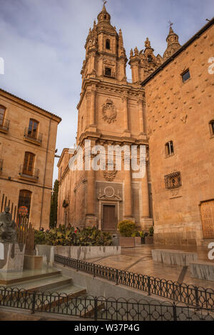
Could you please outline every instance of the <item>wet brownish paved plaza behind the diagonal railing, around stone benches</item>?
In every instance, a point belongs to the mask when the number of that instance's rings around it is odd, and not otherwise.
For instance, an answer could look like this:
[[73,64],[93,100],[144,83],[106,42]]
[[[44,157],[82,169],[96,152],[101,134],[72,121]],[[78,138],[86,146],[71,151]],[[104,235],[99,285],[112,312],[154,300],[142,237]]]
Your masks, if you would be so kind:
[[[167,264],[153,262],[151,249],[158,249],[153,245],[142,245],[141,247],[122,249],[121,255],[110,256],[97,259],[87,259],[87,262],[94,262],[107,267],[136,272],[138,274],[147,274],[148,276],[160,279],[168,279],[173,282],[184,282],[185,284],[194,284],[199,287],[211,287],[214,289],[214,282],[194,279],[190,277],[190,269],[187,267],[178,267]],[[161,247],[161,249],[178,249],[178,247]],[[180,248],[185,251],[193,251],[194,247]],[[204,259],[204,253],[198,249],[199,259]],[[208,262],[207,260],[205,262]]]

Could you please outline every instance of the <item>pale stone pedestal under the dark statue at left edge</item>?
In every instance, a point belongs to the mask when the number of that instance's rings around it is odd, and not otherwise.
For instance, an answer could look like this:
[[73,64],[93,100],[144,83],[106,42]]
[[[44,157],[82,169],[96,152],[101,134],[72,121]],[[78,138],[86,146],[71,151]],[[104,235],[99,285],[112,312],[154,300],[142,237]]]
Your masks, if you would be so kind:
[[[3,247],[2,247],[3,246]],[[25,244],[1,244],[0,272],[22,272]]]

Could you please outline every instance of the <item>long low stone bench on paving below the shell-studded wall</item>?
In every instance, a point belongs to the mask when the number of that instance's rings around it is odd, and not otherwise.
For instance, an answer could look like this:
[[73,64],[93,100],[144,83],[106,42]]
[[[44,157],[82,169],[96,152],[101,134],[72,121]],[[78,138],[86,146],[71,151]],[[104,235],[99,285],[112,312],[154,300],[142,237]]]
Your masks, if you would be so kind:
[[154,262],[183,267],[198,260],[198,254],[195,252],[168,249],[154,249],[152,250],[152,257]]

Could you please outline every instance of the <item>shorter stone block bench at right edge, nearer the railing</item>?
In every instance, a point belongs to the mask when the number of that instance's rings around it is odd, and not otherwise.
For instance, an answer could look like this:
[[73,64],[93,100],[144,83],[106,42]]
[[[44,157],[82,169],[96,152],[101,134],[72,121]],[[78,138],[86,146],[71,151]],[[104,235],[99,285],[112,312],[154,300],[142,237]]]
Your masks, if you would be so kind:
[[192,278],[214,282],[214,263],[212,262],[190,263],[190,272]]

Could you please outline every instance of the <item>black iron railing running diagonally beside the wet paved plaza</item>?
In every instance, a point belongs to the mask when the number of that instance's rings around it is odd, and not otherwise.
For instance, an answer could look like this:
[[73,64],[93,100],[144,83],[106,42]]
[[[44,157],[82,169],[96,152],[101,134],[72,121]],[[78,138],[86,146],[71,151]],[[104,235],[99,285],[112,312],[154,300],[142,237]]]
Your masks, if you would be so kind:
[[200,306],[203,308],[214,308],[214,290],[196,287],[194,285],[179,284],[171,280],[160,279],[136,274],[112,267],[103,267],[100,264],[85,262],[79,259],[72,259],[58,254],[54,255],[54,261],[66,267],[72,267],[77,271],[86,272],[111,282],[116,285],[121,284],[133,289],[139,289],[147,292],[148,295],[155,294],[159,297],[180,301],[191,306]]

